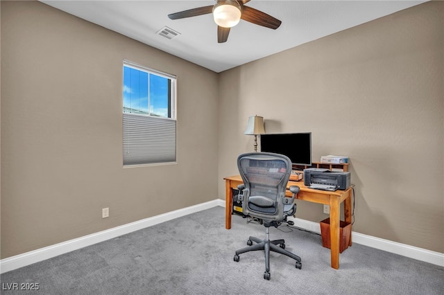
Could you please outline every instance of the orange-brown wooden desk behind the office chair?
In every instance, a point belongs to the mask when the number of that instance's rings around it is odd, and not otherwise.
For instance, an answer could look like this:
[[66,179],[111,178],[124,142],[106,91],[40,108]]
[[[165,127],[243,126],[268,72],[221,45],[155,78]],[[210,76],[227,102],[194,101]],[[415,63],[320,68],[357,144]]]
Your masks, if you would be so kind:
[[[243,184],[240,175],[225,177],[225,229],[231,229],[231,216],[233,206],[232,188],[236,188],[239,184]],[[330,241],[331,241],[331,260],[332,267],[339,269],[339,220],[341,208],[344,204],[344,218],[345,222],[352,223],[352,188],[347,190],[336,190],[335,192],[328,192],[325,190],[314,190],[307,188],[303,181],[289,181],[287,185],[288,197],[291,197],[289,186],[299,186],[300,192],[296,199],[303,199],[308,202],[330,205]],[[352,245],[352,237],[350,236],[349,246]]]

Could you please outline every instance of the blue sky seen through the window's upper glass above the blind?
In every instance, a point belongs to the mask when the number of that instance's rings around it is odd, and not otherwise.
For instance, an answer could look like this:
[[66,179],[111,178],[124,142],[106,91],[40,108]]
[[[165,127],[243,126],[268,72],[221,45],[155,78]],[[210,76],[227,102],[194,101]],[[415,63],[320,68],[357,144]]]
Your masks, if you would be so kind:
[[[149,96],[148,96],[149,93]],[[123,111],[169,117],[168,78],[123,66]]]

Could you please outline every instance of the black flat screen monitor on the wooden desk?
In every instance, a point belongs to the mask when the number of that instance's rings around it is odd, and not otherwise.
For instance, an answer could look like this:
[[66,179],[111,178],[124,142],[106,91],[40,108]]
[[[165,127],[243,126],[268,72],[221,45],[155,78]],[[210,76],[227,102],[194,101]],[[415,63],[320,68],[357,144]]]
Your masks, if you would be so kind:
[[311,166],[311,132],[261,134],[261,151],[284,154],[293,165]]

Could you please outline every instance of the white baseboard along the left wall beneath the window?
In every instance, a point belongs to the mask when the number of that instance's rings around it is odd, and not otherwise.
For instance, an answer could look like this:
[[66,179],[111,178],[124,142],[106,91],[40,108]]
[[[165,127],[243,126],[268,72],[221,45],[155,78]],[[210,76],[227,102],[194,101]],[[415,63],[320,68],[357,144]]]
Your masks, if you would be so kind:
[[83,247],[90,246],[105,240],[110,240],[116,238],[120,235],[125,235],[126,233],[131,233],[133,231],[138,231],[139,229],[144,229],[148,226],[153,226],[155,224],[160,224],[162,222],[167,222],[178,217],[182,217],[191,213],[196,213],[198,211],[203,211],[208,208],[215,206],[225,206],[225,201],[221,199],[215,199],[210,202],[205,202],[195,206],[189,206],[187,208],[182,208],[176,211],[171,211],[169,213],[164,213],[161,215],[156,215],[153,217],[146,218],[144,220],[139,220],[137,222],[131,222],[129,224],[123,224],[122,226],[117,226],[112,229],[107,229],[105,231],[99,231],[98,233],[92,233],[91,235],[85,235],[80,238],[69,240],[66,242],[61,242],[59,244],[53,244],[49,247],[44,247],[34,251],[29,251],[17,256],[12,256],[0,260],[0,274],[6,273],[6,271],[12,271],[26,265],[31,265],[35,262],[46,260],[65,254]]

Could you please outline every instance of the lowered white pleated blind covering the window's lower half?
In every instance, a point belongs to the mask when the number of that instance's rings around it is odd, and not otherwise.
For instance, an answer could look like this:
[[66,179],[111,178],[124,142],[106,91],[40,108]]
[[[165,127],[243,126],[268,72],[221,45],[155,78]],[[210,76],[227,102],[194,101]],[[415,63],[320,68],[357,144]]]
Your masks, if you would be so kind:
[[176,162],[176,120],[123,113],[123,166]]

